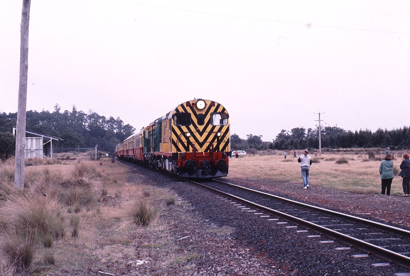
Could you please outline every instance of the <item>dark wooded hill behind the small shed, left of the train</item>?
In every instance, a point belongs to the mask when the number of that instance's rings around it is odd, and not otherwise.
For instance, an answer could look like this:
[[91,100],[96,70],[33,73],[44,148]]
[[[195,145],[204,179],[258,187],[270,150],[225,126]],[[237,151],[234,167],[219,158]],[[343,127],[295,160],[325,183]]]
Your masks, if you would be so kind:
[[[73,110],[60,112],[56,104],[54,111],[27,111],[26,130],[45,135],[56,136],[63,139],[59,148],[93,148],[98,145],[98,150],[115,152],[115,146],[134,132],[134,128],[120,119],[105,118],[96,112],[84,113]],[[0,132],[12,132],[16,127],[17,112],[0,113]]]

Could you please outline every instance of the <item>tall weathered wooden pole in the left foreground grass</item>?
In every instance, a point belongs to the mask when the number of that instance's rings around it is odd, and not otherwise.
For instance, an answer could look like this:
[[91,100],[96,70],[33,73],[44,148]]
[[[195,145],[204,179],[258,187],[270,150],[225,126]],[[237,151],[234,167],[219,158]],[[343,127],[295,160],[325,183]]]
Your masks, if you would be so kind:
[[24,188],[24,151],[26,148],[27,76],[29,69],[29,21],[31,0],[23,0],[20,26],[20,80],[16,126],[16,163],[14,185]]

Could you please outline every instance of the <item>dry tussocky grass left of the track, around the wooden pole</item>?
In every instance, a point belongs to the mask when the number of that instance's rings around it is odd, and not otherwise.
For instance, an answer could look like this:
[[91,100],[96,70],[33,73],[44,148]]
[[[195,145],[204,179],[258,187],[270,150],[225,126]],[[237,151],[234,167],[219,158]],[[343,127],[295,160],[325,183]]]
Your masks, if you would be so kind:
[[[124,164],[88,158],[50,164],[32,159],[30,163],[22,191],[14,189],[14,162],[0,164],[1,275],[22,270],[27,274],[79,271],[124,262],[124,255],[144,258],[152,254],[152,246],[135,247],[129,238],[135,232],[154,233],[155,242],[145,244],[170,242],[164,231],[169,225],[155,216],[161,211],[153,205],[176,208],[175,196],[144,186],[144,176],[128,183]],[[30,243],[26,234],[15,235],[25,227],[33,236]],[[13,248],[25,249],[28,258],[15,255]],[[164,258],[166,264],[173,261],[172,256]]]

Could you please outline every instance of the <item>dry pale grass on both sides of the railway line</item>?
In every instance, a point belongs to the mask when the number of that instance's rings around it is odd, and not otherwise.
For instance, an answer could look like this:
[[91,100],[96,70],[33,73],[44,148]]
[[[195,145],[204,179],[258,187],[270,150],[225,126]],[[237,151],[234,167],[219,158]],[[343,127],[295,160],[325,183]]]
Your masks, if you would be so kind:
[[[396,172],[401,155],[395,153]],[[377,160],[360,152],[312,157],[312,186],[380,193],[381,154],[376,154]],[[90,265],[98,269],[105,263],[124,261],[124,254],[135,256],[138,251],[140,258],[148,256],[153,248],[152,236],[156,237],[155,244],[169,243],[168,234],[163,231],[168,225],[161,212],[170,204],[183,208],[181,204],[185,203],[176,202],[177,195],[168,190],[146,186],[150,180],[130,174],[129,166],[86,157],[68,162],[27,161],[32,166],[26,167],[23,191],[14,190],[14,160],[0,163],[0,275],[28,268],[31,273],[41,271],[41,275]],[[297,159],[292,155],[284,159],[282,152],[231,158],[228,177],[289,181],[300,183],[302,188]],[[401,178],[396,176],[392,195],[401,194]],[[135,247],[129,233],[147,240],[139,241],[142,245]],[[166,265],[184,260],[177,251],[160,251]]]

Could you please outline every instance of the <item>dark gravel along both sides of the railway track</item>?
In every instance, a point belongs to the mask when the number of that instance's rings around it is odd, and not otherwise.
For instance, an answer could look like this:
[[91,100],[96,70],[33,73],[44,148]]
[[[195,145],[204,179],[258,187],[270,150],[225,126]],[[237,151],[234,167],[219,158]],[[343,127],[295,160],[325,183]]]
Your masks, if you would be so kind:
[[[168,188],[186,202],[187,208],[178,205],[165,216],[172,224],[168,230],[176,246],[195,252],[191,265],[164,267],[152,274],[204,274],[204,275],[393,275],[409,272],[399,266],[372,264],[385,262],[377,257],[353,258],[365,254],[357,249],[336,250],[347,247],[304,228],[286,228],[286,224],[268,220],[247,212],[217,198],[214,193],[190,183],[170,178],[144,167],[132,166],[134,177],[141,177],[151,186]],[[144,176],[142,176],[144,175]],[[239,185],[302,201],[338,212],[361,216],[400,228],[409,229],[408,201],[399,196],[361,195],[311,186],[303,190],[295,183],[265,180],[224,178]],[[401,212],[398,212],[401,210]],[[181,215],[181,211],[184,214]],[[176,212],[178,215],[176,215]],[[171,222],[172,221],[172,222]],[[313,237],[310,237],[313,236]],[[178,240],[180,239],[180,240]],[[146,268],[147,269],[147,268]],[[146,272],[149,269],[145,270]],[[150,273],[147,273],[150,274]]]

